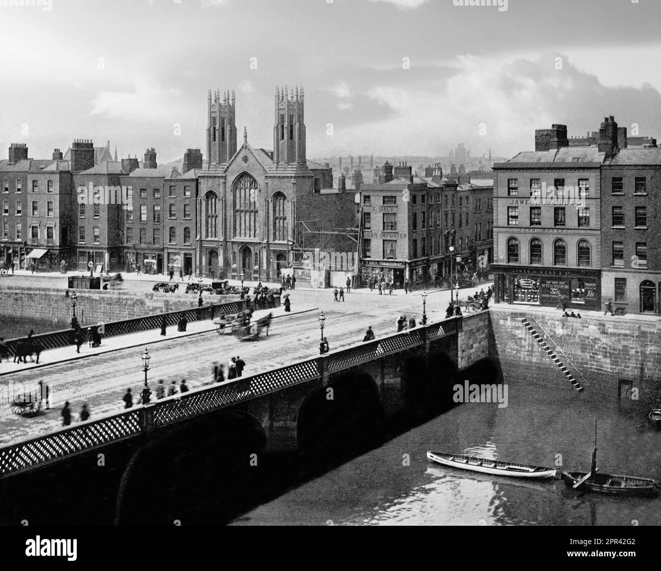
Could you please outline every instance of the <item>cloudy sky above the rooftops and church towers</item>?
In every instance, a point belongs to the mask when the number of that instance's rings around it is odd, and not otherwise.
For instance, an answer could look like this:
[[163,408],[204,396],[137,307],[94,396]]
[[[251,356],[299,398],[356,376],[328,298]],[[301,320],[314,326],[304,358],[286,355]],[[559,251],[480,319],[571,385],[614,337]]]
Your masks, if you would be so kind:
[[659,0],[7,5],[23,2],[0,0],[3,158],[13,141],[40,158],[74,138],[110,139],[122,157],[153,146],[159,163],[206,155],[208,89],[235,89],[239,140],[246,126],[270,149],[286,84],[305,87],[309,157],[445,155],[460,141],[510,156],[535,128],[582,134],[605,115],[661,139]]

